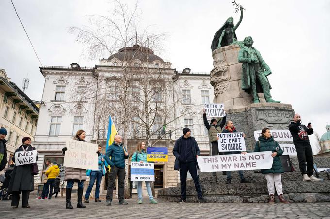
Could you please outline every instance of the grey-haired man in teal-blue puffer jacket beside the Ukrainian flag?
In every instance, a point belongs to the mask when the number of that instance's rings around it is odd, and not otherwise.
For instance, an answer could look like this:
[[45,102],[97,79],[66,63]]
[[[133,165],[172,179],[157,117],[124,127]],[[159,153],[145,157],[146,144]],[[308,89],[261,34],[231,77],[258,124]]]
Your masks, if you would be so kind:
[[[118,176],[118,199],[119,204],[128,204],[124,199],[124,181],[125,181],[125,159],[128,159],[128,153],[122,144],[120,135],[116,135],[114,143],[110,145],[105,152],[105,161],[110,165],[109,184],[107,189],[106,203],[111,205],[112,193],[115,187],[115,179]],[[111,156],[111,159],[109,158]]]

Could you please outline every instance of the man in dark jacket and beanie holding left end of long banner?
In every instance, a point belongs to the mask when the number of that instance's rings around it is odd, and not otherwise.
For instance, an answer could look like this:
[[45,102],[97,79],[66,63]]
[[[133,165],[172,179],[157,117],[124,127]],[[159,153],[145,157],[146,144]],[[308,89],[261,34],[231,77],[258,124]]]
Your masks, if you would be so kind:
[[186,181],[188,171],[194,180],[198,200],[200,203],[204,203],[205,200],[202,197],[197,175],[197,168],[199,169],[199,167],[196,158],[200,156],[200,150],[195,138],[190,136],[190,132],[189,128],[183,128],[183,136],[175,142],[173,148],[173,154],[176,157],[174,169],[180,171],[181,199],[178,203],[187,202]]

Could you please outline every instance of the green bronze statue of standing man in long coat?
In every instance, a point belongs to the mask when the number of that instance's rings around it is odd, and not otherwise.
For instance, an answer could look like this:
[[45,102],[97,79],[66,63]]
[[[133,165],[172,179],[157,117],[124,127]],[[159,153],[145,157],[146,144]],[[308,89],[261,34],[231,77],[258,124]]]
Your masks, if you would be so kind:
[[264,98],[268,103],[280,103],[272,99],[270,95],[271,86],[267,76],[272,72],[269,66],[264,62],[260,52],[252,47],[252,37],[245,37],[244,46],[239,50],[238,62],[242,65],[242,89],[252,94],[253,103],[259,103],[258,93],[264,93]]

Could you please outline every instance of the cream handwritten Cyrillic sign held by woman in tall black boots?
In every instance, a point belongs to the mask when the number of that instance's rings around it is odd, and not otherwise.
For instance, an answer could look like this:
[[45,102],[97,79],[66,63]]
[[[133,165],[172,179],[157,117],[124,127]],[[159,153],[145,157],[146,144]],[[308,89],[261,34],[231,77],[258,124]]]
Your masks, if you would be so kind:
[[64,155],[63,166],[79,169],[99,169],[99,157],[97,144],[73,139],[66,141],[67,151]]

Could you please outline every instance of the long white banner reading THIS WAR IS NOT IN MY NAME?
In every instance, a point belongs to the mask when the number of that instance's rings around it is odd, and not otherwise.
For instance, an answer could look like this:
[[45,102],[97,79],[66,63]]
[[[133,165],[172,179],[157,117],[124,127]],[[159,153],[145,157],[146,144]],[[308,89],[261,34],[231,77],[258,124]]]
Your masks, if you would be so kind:
[[273,165],[272,151],[233,155],[199,156],[201,172],[270,169]]

